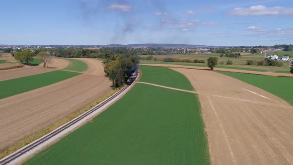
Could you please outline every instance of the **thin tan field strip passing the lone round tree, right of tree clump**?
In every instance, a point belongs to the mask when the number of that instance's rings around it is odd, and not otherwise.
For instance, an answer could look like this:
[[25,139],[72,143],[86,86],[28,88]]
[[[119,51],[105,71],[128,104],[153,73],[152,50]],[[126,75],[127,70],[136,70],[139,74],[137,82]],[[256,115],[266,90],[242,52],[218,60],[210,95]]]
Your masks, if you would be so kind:
[[[173,65],[173,64],[140,64],[140,65],[156,66],[156,67],[169,67],[169,68],[187,68],[187,69],[197,69],[197,70],[210,70],[210,68],[208,68],[208,67],[183,66],[183,65]],[[293,77],[293,74],[273,73],[273,72],[257,72],[257,71],[246,71],[246,70],[225,69],[225,68],[214,68],[214,70],[215,71],[224,71],[224,72],[255,74],[255,75],[266,75],[266,76]]]

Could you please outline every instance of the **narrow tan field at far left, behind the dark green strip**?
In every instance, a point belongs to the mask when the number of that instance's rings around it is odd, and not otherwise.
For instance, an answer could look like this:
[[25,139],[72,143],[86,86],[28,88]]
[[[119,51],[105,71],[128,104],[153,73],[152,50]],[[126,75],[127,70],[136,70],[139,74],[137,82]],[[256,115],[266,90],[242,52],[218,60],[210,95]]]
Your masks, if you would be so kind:
[[[63,69],[67,67],[68,64],[69,62],[63,59],[52,59],[52,64],[49,65],[49,68],[44,68],[42,65],[39,65],[39,66],[24,66],[24,68],[0,71],[0,81],[51,72],[57,69]],[[4,65],[4,64],[0,64],[0,66],[1,65]],[[8,64],[8,65],[14,65],[14,64]]]

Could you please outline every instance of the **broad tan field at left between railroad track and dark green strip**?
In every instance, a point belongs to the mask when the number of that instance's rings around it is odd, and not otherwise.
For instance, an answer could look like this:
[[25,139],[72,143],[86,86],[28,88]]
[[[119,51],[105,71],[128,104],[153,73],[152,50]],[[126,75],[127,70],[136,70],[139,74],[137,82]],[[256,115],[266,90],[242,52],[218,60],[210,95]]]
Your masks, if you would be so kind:
[[106,77],[80,75],[0,99],[0,151],[111,90]]

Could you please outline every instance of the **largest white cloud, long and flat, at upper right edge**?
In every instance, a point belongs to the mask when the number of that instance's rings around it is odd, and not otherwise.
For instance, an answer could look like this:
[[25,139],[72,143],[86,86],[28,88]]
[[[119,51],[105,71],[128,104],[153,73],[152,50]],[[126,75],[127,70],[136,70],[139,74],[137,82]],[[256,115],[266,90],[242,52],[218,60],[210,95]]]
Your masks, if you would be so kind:
[[264,5],[251,6],[249,8],[237,7],[229,12],[230,15],[262,16],[262,15],[291,15],[293,8],[290,7],[266,7]]

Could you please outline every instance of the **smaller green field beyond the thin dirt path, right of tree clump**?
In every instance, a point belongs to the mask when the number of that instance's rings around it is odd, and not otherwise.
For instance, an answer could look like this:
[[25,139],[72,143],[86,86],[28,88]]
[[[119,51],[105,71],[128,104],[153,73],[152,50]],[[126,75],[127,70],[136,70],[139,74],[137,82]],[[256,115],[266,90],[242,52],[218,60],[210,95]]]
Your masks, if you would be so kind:
[[194,89],[184,75],[169,68],[140,66],[140,69],[143,72],[141,82],[155,83],[186,90]]

